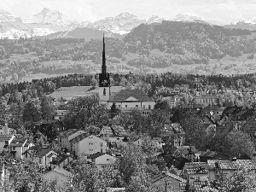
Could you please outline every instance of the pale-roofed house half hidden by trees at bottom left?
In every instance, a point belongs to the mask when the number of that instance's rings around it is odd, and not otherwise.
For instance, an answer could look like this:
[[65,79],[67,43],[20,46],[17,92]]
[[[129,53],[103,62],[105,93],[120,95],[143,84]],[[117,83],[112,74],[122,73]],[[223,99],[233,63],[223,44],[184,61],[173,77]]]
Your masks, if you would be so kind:
[[58,166],[50,172],[46,172],[44,174],[44,178],[48,179],[49,181],[56,179],[58,185],[61,187],[65,187],[65,184],[70,181],[72,177],[73,174],[71,172],[67,172],[67,170],[59,168]]

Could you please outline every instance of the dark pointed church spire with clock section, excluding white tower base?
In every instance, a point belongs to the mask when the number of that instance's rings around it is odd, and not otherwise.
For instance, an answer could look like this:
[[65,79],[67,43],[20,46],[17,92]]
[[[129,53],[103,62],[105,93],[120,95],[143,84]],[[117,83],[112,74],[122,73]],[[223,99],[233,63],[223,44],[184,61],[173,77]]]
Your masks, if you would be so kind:
[[109,87],[109,73],[107,73],[106,66],[106,55],[105,55],[105,37],[103,34],[103,50],[102,50],[102,73],[99,74],[99,86],[100,87]]

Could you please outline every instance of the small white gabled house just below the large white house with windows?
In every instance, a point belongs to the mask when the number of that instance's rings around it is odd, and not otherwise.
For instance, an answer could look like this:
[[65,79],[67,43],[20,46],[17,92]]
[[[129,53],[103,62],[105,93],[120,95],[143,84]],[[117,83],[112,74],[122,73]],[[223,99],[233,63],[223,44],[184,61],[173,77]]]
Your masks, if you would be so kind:
[[87,159],[91,160],[97,167],[113,164],[116,158],[111,154],[97,152],[96,154],[90,154]]

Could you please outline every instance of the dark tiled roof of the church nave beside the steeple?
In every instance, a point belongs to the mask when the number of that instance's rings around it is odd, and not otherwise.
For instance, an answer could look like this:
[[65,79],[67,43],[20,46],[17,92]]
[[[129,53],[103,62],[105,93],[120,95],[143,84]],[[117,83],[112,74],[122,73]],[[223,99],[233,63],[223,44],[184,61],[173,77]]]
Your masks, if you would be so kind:
[[124,102],[130,96],[133,96],[140,102],[154,102],[143,90],[120,90],[117,94],[110,97],[109,102]]

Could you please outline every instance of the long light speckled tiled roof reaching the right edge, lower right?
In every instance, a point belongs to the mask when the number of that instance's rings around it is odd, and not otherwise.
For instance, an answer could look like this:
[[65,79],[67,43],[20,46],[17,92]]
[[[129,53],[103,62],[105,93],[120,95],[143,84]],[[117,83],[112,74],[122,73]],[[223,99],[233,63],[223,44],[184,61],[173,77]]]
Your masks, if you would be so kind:
[[221,170],[236,170],[241,167],[256,170],[256,160],[207,160],[208,169],[219,168]]

